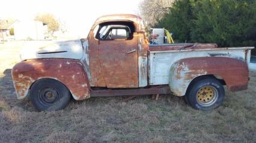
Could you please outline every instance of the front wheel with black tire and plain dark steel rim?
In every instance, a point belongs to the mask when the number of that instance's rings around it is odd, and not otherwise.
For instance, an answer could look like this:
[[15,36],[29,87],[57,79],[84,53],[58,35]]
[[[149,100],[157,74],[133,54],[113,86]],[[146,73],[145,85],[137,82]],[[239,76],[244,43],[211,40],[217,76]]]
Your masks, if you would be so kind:
[[44,78],[36,81],[29,91],[29,99],[38,111],[56,111],[67,107],[69,89],[57,80]]

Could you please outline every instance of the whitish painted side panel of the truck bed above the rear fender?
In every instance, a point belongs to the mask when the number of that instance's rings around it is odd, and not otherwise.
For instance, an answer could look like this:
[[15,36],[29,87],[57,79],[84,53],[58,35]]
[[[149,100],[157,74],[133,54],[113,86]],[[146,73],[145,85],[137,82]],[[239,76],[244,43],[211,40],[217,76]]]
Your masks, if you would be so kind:
[[[216,58],[227,56],[241,61],[245,61],[246,58],[246,54],[244,53],[245,48],[212,47],[203,49],[198,47],[198,49],[194,49],[193,51],[189,49],[181,51],[156,51],[156,47],[154,48],[154,51],[150,51],[150,85],[168,84],[171,65],[181,59],[190,57],[213,57],[210,55],[215,55],[214,57]],[[160,45],[158,47],[160,47]],[[216,54],[219,56],[216,56]]]

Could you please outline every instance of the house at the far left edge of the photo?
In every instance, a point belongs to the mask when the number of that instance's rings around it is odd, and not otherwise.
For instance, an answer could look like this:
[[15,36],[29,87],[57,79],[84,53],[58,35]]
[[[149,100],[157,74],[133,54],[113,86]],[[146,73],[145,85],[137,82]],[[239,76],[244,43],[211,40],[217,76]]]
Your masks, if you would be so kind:
[[7,41],[11,36],[11,29],[13,29],[14,23],[17,20],[0,19],[0,41]]

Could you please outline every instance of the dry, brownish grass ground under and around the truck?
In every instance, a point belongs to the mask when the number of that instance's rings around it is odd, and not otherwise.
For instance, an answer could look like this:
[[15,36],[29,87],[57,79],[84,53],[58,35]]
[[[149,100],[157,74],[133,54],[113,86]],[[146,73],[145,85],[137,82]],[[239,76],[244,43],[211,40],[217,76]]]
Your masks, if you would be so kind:
[[256,72],[248,90],[227,92],[212,111],[161,95],[91,98],[37,112],[28,99],[16,99],[11,81],[23,44],[0,44],[0,142],[256,142]]

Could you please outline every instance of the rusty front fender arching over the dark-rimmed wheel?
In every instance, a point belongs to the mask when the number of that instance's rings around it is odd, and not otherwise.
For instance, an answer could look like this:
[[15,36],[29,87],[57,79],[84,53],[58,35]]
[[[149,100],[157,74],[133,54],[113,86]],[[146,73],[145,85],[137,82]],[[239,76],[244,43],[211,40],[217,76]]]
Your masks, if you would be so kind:
[[41,78],[63,83],[76,100],[90,98],[90,83],[82,63],[73,59],[32,59],[17,63],[12,71],[17,98],[28,95],[31,85]]

